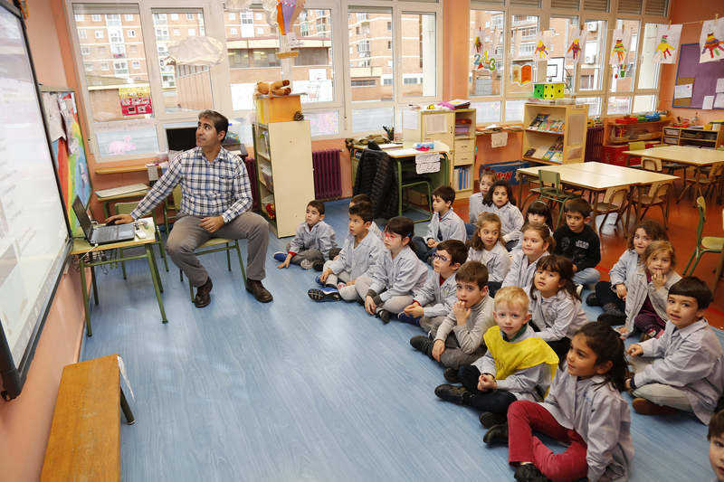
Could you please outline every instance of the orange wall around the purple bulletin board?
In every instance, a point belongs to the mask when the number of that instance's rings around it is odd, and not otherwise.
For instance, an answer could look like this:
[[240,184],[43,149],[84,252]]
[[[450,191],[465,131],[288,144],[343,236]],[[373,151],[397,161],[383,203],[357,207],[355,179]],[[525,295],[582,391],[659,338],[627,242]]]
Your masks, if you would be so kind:
[[[681,43],[699,43],[701,21],[713,19],[716,14],[724,17],[724,2],[721,0],[672,0],[672,24],[684,24],[681,28]],[[687,24],[690,23],[690,24]],[[724,61],[719,61],[724,72]],[[674,117],[693,118],[699,113],[701,123],[724,119],[724,110],[672,109],[673,87],[676,84],[676,63],[666,64],[662,71],[662,89],[659,92],[659,109],[671,110]],[[722,73],[724,77],[724,73]]]

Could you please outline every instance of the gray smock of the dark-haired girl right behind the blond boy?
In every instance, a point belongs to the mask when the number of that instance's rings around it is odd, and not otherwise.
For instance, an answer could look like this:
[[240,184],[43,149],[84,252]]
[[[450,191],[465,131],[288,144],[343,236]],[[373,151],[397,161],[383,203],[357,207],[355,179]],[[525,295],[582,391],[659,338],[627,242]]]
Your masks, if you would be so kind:
[[540,331],[535,336],[546,342],[573,338],[581,326],[588,323],[586,312],[581,307],[581,302],[573,298],[565,289],[550,298],[543,298],[538,289],[525,288],[530,298],[530,321],[538,326]]

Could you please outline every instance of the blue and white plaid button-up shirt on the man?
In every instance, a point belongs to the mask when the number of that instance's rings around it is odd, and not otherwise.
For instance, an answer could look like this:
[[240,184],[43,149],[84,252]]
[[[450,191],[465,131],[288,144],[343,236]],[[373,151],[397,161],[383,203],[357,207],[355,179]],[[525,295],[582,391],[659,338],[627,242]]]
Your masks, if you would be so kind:
[[176,156],[166,174],[130,213],[133,219],[142,217],[171,194],[181,184],[179,213],[198,217],[223,216],[230,222],[252,207],[252,188],[241,157],[221,148],[214,162],[209,162],[201,147]]

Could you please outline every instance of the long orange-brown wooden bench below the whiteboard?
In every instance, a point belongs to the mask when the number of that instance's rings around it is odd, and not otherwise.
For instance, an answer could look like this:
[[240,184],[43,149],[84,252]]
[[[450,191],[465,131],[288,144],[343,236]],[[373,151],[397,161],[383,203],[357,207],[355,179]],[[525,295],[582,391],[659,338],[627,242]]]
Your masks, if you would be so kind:
[[118,354],[66,365],[41,481],[119,481],[119,405],[129,424],[133,423],[120,388]]

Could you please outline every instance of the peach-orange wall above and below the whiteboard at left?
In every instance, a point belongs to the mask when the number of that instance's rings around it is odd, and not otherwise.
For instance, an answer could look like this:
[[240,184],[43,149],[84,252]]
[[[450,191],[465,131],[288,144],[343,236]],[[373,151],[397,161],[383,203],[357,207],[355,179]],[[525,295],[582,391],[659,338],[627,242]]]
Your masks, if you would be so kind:
[[[50,0],[33,2],[28,36],[38,80],[64,87],[65,71],[54,42],[57,36]],[[78,361],[83,302],[77,269],[62,276],[38,342],[23,392],[0,401],[0,467],[3,480],[40,478],[62,367]]]

